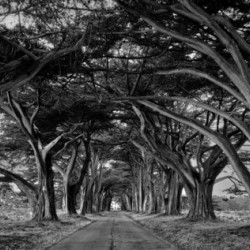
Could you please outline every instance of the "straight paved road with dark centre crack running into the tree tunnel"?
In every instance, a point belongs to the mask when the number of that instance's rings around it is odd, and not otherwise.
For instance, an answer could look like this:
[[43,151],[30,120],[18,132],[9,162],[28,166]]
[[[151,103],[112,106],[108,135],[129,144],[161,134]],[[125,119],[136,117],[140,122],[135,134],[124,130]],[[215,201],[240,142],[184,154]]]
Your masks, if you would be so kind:
[[122,212],[105,214],[49,250],[177,250]]

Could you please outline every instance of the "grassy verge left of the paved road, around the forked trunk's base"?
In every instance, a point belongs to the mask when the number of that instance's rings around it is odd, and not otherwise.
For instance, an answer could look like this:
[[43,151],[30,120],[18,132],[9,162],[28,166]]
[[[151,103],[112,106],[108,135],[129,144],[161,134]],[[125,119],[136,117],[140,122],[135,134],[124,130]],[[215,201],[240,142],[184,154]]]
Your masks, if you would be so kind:
[[35,222],[30,220],[27,210],[1,212],[0,249],[3,250],[46,249],[91,223],[85,217],[68,217],[63,213],[59,213],[58,222]]

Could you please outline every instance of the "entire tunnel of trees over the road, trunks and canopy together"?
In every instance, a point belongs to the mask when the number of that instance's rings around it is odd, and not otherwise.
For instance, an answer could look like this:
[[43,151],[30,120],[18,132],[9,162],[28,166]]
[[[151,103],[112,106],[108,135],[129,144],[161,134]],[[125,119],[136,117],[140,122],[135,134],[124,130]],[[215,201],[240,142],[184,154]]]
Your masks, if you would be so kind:
[[250,194],[240,151],[250,140],[249,5],[1,2],[1,161],[31,158],[37,176],[20,185],[38,194],[38,219],[57,219],[57,172],[69,213],[79,195],[82,213],[112,196],[124,209],[177,213],[184,187],[189,217],[214,218],[228,164]]

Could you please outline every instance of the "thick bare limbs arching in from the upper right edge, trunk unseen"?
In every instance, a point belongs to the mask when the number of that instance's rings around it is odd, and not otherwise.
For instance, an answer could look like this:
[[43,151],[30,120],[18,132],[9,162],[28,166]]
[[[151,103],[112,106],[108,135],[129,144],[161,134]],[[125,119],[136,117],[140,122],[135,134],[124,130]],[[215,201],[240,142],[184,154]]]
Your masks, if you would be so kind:
[[[128,3],[126,1],[117,1],[122,7],[125,8],[129,13],[132,13],[136,16],[139,16],[142,18],[146,23],[148,23],[150,26],[152,26],[154,29],[156,29],[158,32],[160,32],[163,35],[170,36],[173,39],[180,41],[178,44],[180,46],[187,45],[193,50],[188,50],[184,53],[188,55],[188,52],[193,52],[195,58],[204,58],[207,62],[210,62],[208,59],[211,58],[214,60],[214,66],[217,66],[217,69],[208,70],[207,72],[202,70],[197,70],[196,68],[190,67],[190,68],[177,68],[177,69],[171,69],[171,70],[159,70],[156,74],[160,75],[170,75],[170,74],[188,74],[188,76],[195,76],[199,78],[204,78],[212,83],[216,84],[220,88],[223,88],[225,91],[227,91],[230,95],[235,97],[239,102],[241,102],[241,105],[246,108],[249,107],[249,72],[248,72],[248,53],[249,53],[249,45],[244,40],[243,37],[241,37],[237,32],[236,29],[233,28],[233,26],[230,24],[230,22],[222,17],[222,13],[230,18],[234,23],[244,25],[244,22],[246,22],[246,19],[242,19],[241,21],[235,15],[233,18],[232,13],[241,13],[240,15],[245,16],[244,13],[244,4],[239,1],[240,3],[237,3],[236,5],[233,4],[232,8],[229,11],[230,5],[227,5],[228,3],[223,3],[223,5],[220,5],[220,9],[216,9],[212,6],[211,3],[207,3],[204,1],[204,5],[210,7],[206,7],[209,9],[209,14],[204,11],[204,9],[200,8],[198,5],[191,1],[177,1],[175,3],[169,3],[169,2],[162,2],[162,4],[158,3],[149,3],[147,1],[137,1],[133,3]],[[211,13],[214,12],[216,16],[212,16]],[[238,15],[238,16],[240,16]],[[188,21],[189,18],[192,21]],[[180,22],[183,23],[183,20],[187,20],[185,22],[187,30],[189,34],[185,33],[185,31],[182,29],[183,25],[180,25]],[[198,22],[199,24],[194,25],[194,22]],[[196,29],[195,29],[196,28]],[[209,28],[209,29],[207,29]],[[198,31],[197,31],[198,29]],[[243,34],[245,32],[245,29],[243,28]],[[229,35],[229,32],[231,35]],[[201,38],[201,39],[199,39]],[[207,59],[208,58],[208,59]],[[207,67],[206,67],[207,69]],[[214,73],[217,75],[217,78],[210,74]],[[223,72],[223,73],[222,73]],[[223,80],[223,81],[222,81]],[[225,82],[224,82],[225,81]],[[230,84],[227,84],[227,82],[230,82]],[[232,88],[231,86],[235,86],[235,88]],[[172,96],[169,97],[169,100],[171,100]],[[175,99],[176,98],[176,99]],[[172,100],[181,100],[178,99],[179,97],[173,97]],[[146,99],[146,98],[145,98]],[[168,99],[168,97],[166,97]],[[154,100],[157,100],[157,97],[155,97]],[[182,101],[186,102],[187,100],[182,99]],[[151,110],[157,111],[161,114],[163,114],[160,109],[162,109],[160,106],[159,109],[154,109],[153,107],[156,107],[156,104],[146,101],[141,101],[140,104],[145,105],[146,107],[151,108]],[[189,103],[190,103],[190,97],[189,97]],[[191,102],[192,103],[192,102]],[[196,102],[197,103],[197,102]],[[197,106],[203,106],[203,103],[199,101],[197,103]],[[218,110],[213,109],[211,105],[209,106],[203,106],[205,110],[211,111],[215,113],[216,115],[222,115],[225,119],[231,120],[230,117],[228,117],[228,114],[220,113]],[[242,109],[244,110],[244,108]],[[242,112],[242,111],[241,111]],[[166,114],[166,113],[165,113]],[[244,111],[241,113],[244,116]],[[173,115],[173,116],[172,116]],[[217,144],[224,150],[225,154],[230,159],[230,162],[234,166],[235,171],[237,172],[240,179],[244,182],[244,186],[246,189],[249,190],[249,172],[240,162],[239,157],[237,156],[236,152],[233,153],[233,158],[231,153],[227,153],[227,146],[228,142],[222,142],[220,141],[222,139],[220,134],[217,134],[212,136],[212,134],[208,133],[207,129],[206,131],[201,131],[196,127],[196,124],[194,125],[195,121],[192,120],[192,122],[188,122],[188,120],[184,117],[182,119],[179,115],[173,114],[168,111],[167,117],[175,119],[176,121],[183,122],[186,125],[189,125],[195,129],[197,129],[200,133],[203,133],[206,136],[209,136],[213,141],[217,142]],[[236,118],[236,120],[238,120]],[[234,124],[236,124],[237,127],[239,127],[243,133],[249,138],[249,129],[247,128],[247,124],[237,124],[237,121],[233,121]],[[193,124],[193,126],[191,125]],[[241,126],[243,125],[243,126]],[[218,140],[219,139],[219,140]],[[220,141],[220,142],[219,142]],[[231,147],[231,146],[230,146]],[[232,152],[235,151],[232,148]],[[234,162],[234,163],[233,163]],[[248,177],[246,177],[248,176]],[[249,192],[249,191],[248,191]]]

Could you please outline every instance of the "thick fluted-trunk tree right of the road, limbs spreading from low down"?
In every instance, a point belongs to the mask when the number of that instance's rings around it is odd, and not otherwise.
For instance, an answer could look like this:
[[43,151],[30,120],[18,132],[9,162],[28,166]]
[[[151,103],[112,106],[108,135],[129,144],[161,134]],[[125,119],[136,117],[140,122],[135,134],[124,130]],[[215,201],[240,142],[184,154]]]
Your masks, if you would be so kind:
[[[157,106],[156,104],[152,104],[152,105],[154,107]],[[149,105],[149,107],[151,107],[151,104]],[[200,130],[201,127],[206,128],[207,131],[209,130],[208,127],[203,126],[202,124],[196,122],[192,118],[186,118],[181,115],[177,115],[170,110],[168,110],[165,113],[166,109],[164,109],[163,111],[162,107],[160,106],[157,106],[157,107],[159,108],[159,109],[157,108],[157,111],[159,112],[159,114],[163,116],[166,115],[166,117],[170,117],[170,118],[174,117],[175,120],[180,121],[192,128],[195,128],[201,133],[204,133],[202,130]],[[214,150],[210,154],[210,157],[206,159],[207,160],[206,163],[208,165],[206,166],[204,171],[207,171],[207,173],[206,172],[203,173],[202,171],[200,172],[200,176],[199,176],[197,171],[191,167],[191,164],[188,162],[187,158],[181,152],[170,151],[168,147],[161,145],[158,140],[155,140],[155,138],[149,134],[149,132],[146,129],[146,122],[148,121],[145,118],[145,115],[137,107],[134,107],[134,109],[141,121],[141,134],[143,138],[147,141],[147,143],[150,145],[151,151],[153,152],[156,159],[158,159],[163,164],[171,166],[171,168],[175,169],[178,172],[178,174],[181,176],[185,190],[191,200],[191,210],[189,213],[189,217],[192,218],[192,217],[205,216],[205,217],[214,218],[215,216],[213,213],[213,209],[211,207],[212,206],[212,203],[211,203],[212,187],[213,187],[215,178],[220,173],[220,171],[225,167],[225,164],[226,164],[225,158],[222,158],[223,160],[220,159],[221,151],[218,150],[218,148],[214,148]],[[192,121],[192,123],[188,121]],[[196,127],[196,125],[198,125],[198,128]],[[217,133],[212,130],[210,132]],[[236,133],[237,132],[239,131],[236,131]],[[232,132],[231,135],[228,134],[229,138],[232,137],[233,135],[235,135],[235,131]],[[219,134],[219,136],[214,139],[214,141],[217,142],[218,146],[224,149],[225,155],[230,159],[232,155],[229,154],[229,151],[228,151],[229,149],[230,152],[234,154],[236,158],[238,158],[236,150],[243,145],[243,143],[245,142],[245,137],[240,136],[238,139],[238,142],[232,148],[230,147],[231,144],[229,142],[227,143],[227,146],[229,145],[229,147],[225,148],[226,143],[224,143],[222,147],[220,141],[218,141],[218,138],[219,140],[222,138],[224,140],[226,139],[226,137]],[[232,149],[232,151],[230,148]],[[201,157],[200,153],[201,153],[200,149],[198,149],[197,151],[198,166],[202,167],[201,165],[199,165],[199,164],[202,164],[201,159],[199,158]],[[238,161],[240,161],[240,159]],[[215,166],[212,165],[213,167],[211,167],[211,163],[215,163]],[[205,173],[207,174],[206,179],[204,176]],[[248,174],[248,172],[246,172],[246,174]],[[205,187],[203,185],[211,185],[211,186]],[[204,193],[204,192],[208,192],[208,193]],[[205,199],[205,202],[202,202],[203,198]],[[200,206],[198,202],[199,200],[202,202],[201,204],[209,204],[208,207]]]

